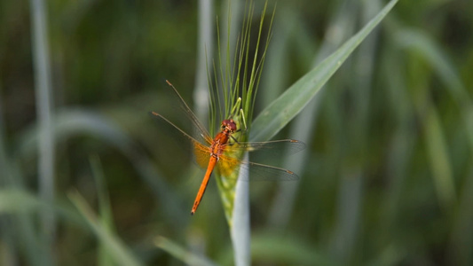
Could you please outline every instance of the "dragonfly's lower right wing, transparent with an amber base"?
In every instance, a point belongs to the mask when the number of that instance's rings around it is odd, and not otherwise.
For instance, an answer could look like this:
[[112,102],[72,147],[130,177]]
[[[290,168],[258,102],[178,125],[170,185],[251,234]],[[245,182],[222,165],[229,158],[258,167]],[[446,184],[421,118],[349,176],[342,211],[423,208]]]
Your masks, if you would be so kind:
[[298,180],[294,172],[284,168],[272,167],[248,160],[238,160],[234,157],[219,156],[217,170],[223,176],[230,176],[233,171],[248,170],[249,176],[239,177],[241,181],[294,181]]

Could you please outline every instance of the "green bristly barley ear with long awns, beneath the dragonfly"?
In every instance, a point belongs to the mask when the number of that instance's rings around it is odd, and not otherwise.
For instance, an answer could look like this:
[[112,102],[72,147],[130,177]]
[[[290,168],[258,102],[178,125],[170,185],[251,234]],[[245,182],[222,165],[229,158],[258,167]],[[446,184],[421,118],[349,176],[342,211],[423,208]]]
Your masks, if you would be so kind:
[[[230,51],[230,42],[232,40],[231,35],[235,35],[231,32],[232,21],[227,22],[227,36],[226,36],[226,51],[225,58],[222,55],[220,38],[218,39],[218,62],[220,67],[214,74],[215,84],[212,86],[212,78],[209,76],[210,84],[210,96],[212,101],[210,103],[210,127],[211,129],[218,128],[219,121],[223,119],[233,118],[236,122],[238,132],[234,132],[233,138],[240,142],[246,142],[248,140],[248,132],[250,132],[251,121],[253,115],[253,108],[256,102],[256,92],[258,84],[261,79],[261,73],[263,71],[265,54],[269,45],[272,32],[272,20],[270,26],[266,29],[268,34],[265,38],[264,49],[262,50],[261,39],[264,39],[263,27],[264,27],[264,16],[266,15],[267,2],[264,3],[264,8],[261,13],[261,19],[259,20],[259,28],[256,35],[256,40],[253,41],[251,38],[251,25],[254,17],[255,4],[249,1],[245,4],[244,17],[241,27],[241,37],[237,41],[235,51]],[[232,18],[232,5],[229,1],[228,5],[228,18]],[[274,18],[274,12],[272,13],[272,19]],[[217,24],[217,34],[219,36],[219,25]],[[255,51],[250,54],[250,45],[256,43]],[[234,54],[234,56],[232,56]],[[261,54],[263,54],[261,56]],[[252,58],[251,58],[252,57]],[[233,64],[232,64],[233,61]],[[225,66],[224,63],[225,62]],[[214,63],[215,65],[215,63]],[[210,73],[210,69],[208,69]],[[218,84],[222,84],[219,86]],[[220,95],[223,95],[223,103],[220,102]],[[223,105],[223,106],[220,106]],[[223,113],[217,113],[217,110],[225,110]],[[218,118],[218,119],[216,119]],[[217,124],[214,124],[217,123]],[[234,140],[230,139],[232,143]],[[241,158],[244,154],[240,151],[232,152],[226,151],[225,155],[230,155],[233,158]],[[232,153],[232,154],[228,154]],[[225,162],[220,162],[221,165]],[[233,226],[233,209],[235,201],[235,188],[236,180],[238,180],[240,173],[239,169],[233,169],[227,165],[224,168],[232,169],[231,171],[216,171],[214,175],[217,179],[218,189],[222,198],[223,206],[225,209],[225,216],[230,227]],[[239,200],[239,199],[236,199]]]

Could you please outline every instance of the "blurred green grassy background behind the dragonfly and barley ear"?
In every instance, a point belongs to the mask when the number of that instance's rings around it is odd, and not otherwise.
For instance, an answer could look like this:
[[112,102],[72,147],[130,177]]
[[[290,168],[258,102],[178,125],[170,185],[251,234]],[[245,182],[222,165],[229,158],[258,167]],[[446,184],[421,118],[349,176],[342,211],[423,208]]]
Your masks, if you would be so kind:
[[[0,264],[233,263],[215,181],[189,215],[202,172],[147,114],[185,128],[164,80],[194,106],[198,20],[227,14],[203,2],[47,1],[50,121],[35,1],[0,2]],[[279,1],[256,115],[384,4]],[[472,14],[469,0],[400,1],[280,132],[308,147],[272,162],[298,182],[251,184],[252,262],[473,264]]]

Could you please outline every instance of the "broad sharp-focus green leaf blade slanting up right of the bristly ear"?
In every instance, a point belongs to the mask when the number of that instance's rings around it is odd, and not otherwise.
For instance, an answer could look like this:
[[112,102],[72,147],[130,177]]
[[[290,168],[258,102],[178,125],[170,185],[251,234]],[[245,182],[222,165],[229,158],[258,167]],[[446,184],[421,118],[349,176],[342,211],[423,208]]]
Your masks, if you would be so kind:
[[367,35],[390,12],[398,0],[391,0],[373,20],[370,20],[358,34],[351,37],[343,46],[322,61],[309,73],[294,83],[280,98],[266,107],[253,121],[249,134],[250,141],[264,141],[276,135],[297,113],[306,106],[311,98],[322,88],[335,71],[351,55]]

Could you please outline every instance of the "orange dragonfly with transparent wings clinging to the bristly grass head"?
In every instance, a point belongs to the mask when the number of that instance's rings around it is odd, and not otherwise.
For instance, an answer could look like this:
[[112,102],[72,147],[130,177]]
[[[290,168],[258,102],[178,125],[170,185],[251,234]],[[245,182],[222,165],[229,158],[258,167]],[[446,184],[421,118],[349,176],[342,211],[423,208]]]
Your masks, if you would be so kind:
[[[177,129],[182,133],[185,138],[193,144],[193,151],[195,160],[199,163],[202,168],[207,168],[205,176],[202,180],[201,187],[197,196],[193,202],[193,208],[191,215],[195,213],[197,207],[201,203],[203,194],[209,184],[210,176],[215,168],[218,173],[231,173],[237,168],[245,168],[250,172],[248,180],[297,180],[299,177],[294,173],[284,168],[276,168],[269,165],[259,164],[248,160],[240,160],[234,157],[232,153],[243,153],[256,150],[268,150],[271,152],[284,152],[284,153],[296,153],[304,149],[305,144],[303,142],[294,139],[283,139],[273,140],[266,142],[238,142],[232,135],[237,129],[237,123],[232,118],[225,119],[221,123],[221,131],[217,133],[217,136],[212,138],[209,136],[209,132],[197,119],[195,114],[191,111],[189,106],[185,104],[184,99],[179,95],[176,88],[169,82],[166,81],[176,94],[182,109],[187,114],[188,118],[193,122],[193,129],[195,131],[194,136],[185,133],[183,129],[179,129],[174,123],[166,119],[162,114],[151,112],[155,117],[166,121],[174,129]],[[200,138],[201,141],[196,138]],[[229,142],[233,139],[233,142]],[[241,180],[241,179],[239,179]]]

